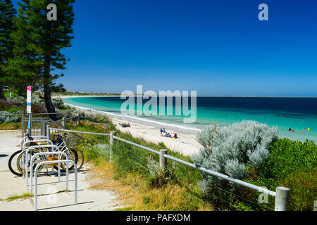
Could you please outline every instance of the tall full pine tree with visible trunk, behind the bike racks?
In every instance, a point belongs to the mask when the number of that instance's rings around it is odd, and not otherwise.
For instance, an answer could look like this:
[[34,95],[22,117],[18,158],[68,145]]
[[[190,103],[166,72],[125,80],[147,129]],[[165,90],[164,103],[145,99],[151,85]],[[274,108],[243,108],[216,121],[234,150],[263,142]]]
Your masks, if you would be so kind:
[[[19,4],[17,30],[13,32],[16,56],[11,60],[11,72],[20,77],[31,76],[37,80],[36,88],[44,91],[44,102],[49,113],[55,113],[51,101],[52,91],[64,91],[56,79],[63,74],[52,72],[66,69],[66,56],[61,50],[71,46],[73,39],[73,3],[75,0],[22,0]],[[46,17],[49,4],[57,6],[57,20]],[[24,65],[24,66],[22,66]],[[56,119],[56,115],[51,115]]]

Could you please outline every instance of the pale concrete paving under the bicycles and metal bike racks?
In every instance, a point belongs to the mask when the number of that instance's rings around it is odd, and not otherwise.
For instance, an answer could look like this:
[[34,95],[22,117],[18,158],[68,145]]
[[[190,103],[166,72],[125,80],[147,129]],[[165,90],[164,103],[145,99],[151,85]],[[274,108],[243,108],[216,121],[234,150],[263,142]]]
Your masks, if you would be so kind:
[[[9,140],[9,141],[8,141]],[[6,200],[30,193],[30,186],[25,186],[25,179],[15,176],[8,169],[9,156],[18,150],[20,144],[20,131],[0,131],[0,211],[32,211],[34,210],[34,197],[17,198],[13,201]],[[8,154],[5,156],[4,154]],[[77,180],[77,205],[74,205],[74,181],[75,174],[69,176],[69,190],[66,192],[66,176],[61,176],[58,183],[58,176],[51,175],[38,178],[38,210],[48,211],[74,211],[74,210],[103,210],[111,211],[125,207],[116,198],[118,195],[112,191],[93,191],[91,186],[91,165],[85,163],[78,172]],[[43,169],[42,172],[46,171]],[[51,170],[50,170],[51,171]],[[49,176],[50,175],[50,176]],[[29,179],[30,182],[30,179]],[[30,184],[30,183],[29,183]],[[33,181],[34,184],[34,181]],[[34,193],[34,188],[33,188]]]

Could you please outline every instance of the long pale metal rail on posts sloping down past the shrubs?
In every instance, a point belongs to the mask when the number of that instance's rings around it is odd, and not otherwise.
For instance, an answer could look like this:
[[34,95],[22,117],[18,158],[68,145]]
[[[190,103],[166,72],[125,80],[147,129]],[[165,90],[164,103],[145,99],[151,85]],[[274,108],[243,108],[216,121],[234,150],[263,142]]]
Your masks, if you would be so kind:
[[[92,132],[85,132],[85,131],[73,131],[73,130],[66,130],[66,129],[55,129],[55,128],[48,128],[50,130],[57,130],[57,131],[68,131],[68,132],[73,132],[73,133],[79,133],[79,134],[92,134],[92,135],[101,135],[101,136],[110,136],[110,144],[111,146],[113,146],[115,144],[115,139],[118,141],[123,141],[125,143],[128,143],[132,146],[137,146],[139,148],[142,148],[144,150],[147,150],[151,153],[160,155],[160,166],[162,168],[166,168],[167,167],[167,163],[168,160],[173,160],[175,162],[181,163],[182,165],[187,165],[188,167],[192,167],[195,169],[198,169],[201,172],[205,172],[207,174],[210,174],[211,176],[217,176],[220,179],[225,179],[227,181],[230,181],[234,184],[238,184],[240,186],[244,186],[247,188],[251,188],[255,191],[258,191],[259,193],[264,193],[267,195],[271,195],[273,197],[275,197],[275,211],[287,211],[287,207],[288,207],[288,198],[289,198],[289,193],[290,193],[290,189],[289,188],[285,188],[285,187],[277,187],[276,191],[270,191],[266,188],[262,188],[260,186],[256,186],[254,184],[249,184],[245,181],[239,180],[239,179],[233,179],[230,176],[227,176],[225,174],[220,174],[218,172],[212,171],[211,169],[206,169],[204,167],[201,167],[199,165],[194,165],[190,162],[186,162],[184,160],[180,160],[178,158],[174,158],[170,155],[168,155],[168,151],[165,149],[162,149],[160,151],[151,149],[151,148],[147,148],[145,146],[141,146],[137,143],[133,143],[132,141],[128,141],[125,139],[121,139],[118,136],[116,136],[116,131],[111,131],[110,134],[101,134],[101,133],[92,133]],[[110,159],[111,159],[111,155],[112,155],[112,150],[110,151]]]

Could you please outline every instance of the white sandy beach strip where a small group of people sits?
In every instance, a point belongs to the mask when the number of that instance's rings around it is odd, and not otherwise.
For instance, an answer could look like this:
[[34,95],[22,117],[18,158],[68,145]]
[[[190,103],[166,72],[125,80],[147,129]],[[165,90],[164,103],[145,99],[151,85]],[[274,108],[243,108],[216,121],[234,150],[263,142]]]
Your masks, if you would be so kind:
[[[70,105],[65,103],[66,105]],[[182,127],[176,127],[177,125],[169,124],[158,124],[149,120],[142,120],[134,117],[125,117],[123,115],[117,115],[115,113],[108,113],[105,111],[93,110],[90,108],[84,108],[77,105],[70,105],[77,110],[94,115],[94,114],[105,114],[111,118],[116,128],[122,132],[130,133],[135,138],[142,138],[146,141],[153,143],[163,142],[166,147],[170,148],[175,152],[182,153],[183,155],[192,155],[199,152],[199,148],[202,148],[200,143],[196,140],[198,130],[186,129]],[[121,127],[119,123],[130,123],[131,127]],[[163,127],[172,136],[178,135],[178,139],[172,139],[160,135],[160,129]]]

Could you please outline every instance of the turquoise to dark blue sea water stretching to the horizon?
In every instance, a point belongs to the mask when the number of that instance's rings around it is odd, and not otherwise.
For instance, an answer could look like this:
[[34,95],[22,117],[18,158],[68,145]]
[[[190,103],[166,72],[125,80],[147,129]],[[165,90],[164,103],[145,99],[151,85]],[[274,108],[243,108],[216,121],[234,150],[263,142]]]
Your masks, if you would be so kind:
[[[120,97],[64,98],[64,102],[70,105],[115,114],[120,114],[120,108],[124,101]],[[144,100],[143,105],[147,101]],[[175,107],[174,99],[173,115],[167,115],[168,107],[165,104],[166,113],[163,116],[134,115],[133,117],[157,122],[166,127],[173,125],[188,129],[202,129],[208,124],[215,123],[225,125],[242,120],[256,120],[268,124],[270,127],[278,127],[280,137],[299,141],[309,139],[317,142],[317,98],[197,97],[197,120],[190,124],[183,122],[183,119],[186,118],[183,112],[181,115],[176,115],[176,110],[181,110],[181,106]],[[159,108],[158,104],[158,114]],[[151,108],[149,109],[151,110]],[[135,105],[135,110],[140,112],[137,105]],[[296,130],[296,132],[288,131],[289,128]],[[309,131],[304,130],[307,128]]]

